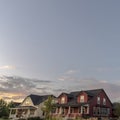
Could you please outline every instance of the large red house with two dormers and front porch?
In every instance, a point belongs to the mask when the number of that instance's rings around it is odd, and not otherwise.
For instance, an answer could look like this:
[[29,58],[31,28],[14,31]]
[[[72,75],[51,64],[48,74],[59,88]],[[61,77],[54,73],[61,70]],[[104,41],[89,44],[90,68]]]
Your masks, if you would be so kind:
[[108,119],[112,116],[112,103],[103,89],[61,93],[53,116]]

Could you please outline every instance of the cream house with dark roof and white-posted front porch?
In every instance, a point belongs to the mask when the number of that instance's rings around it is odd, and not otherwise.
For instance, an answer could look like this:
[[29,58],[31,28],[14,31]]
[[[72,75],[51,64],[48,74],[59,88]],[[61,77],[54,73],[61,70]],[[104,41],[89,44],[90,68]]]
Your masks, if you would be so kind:
[[[11,119],[20,119],[20,118],[29,118],[29,117],[44,117],[44,113],[41,108],[44,106],[44,102],[48,99],[49,96],[53,95],[29,95],[23,102],[15,107],[10,108],[9,118]],[[54,96],[53,96],[54,97]],[[55,98],[55,97],[54,97]]]

